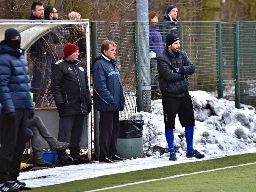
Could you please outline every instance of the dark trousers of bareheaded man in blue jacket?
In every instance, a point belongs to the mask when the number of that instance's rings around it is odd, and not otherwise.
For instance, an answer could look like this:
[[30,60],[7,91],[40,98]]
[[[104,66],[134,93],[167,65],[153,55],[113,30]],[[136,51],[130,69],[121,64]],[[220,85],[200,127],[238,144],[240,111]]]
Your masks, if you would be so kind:
[[119,111],[100,111],[100,159],[117,153],[120,131]]

